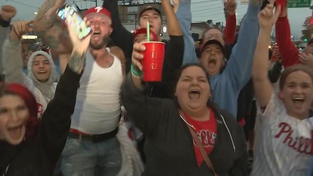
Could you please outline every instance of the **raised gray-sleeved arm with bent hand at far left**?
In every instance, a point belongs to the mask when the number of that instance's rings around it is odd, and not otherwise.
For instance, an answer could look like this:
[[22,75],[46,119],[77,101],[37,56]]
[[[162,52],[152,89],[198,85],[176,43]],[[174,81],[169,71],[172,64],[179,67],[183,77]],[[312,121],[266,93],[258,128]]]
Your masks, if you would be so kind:
[[[16,21],[2,46],[3,73],[6,82],[25,85],[25,75],[22,71],[22,44],[21,36],[31,30],[32,21]],[[27,86],[27,85],[26,85]]]

